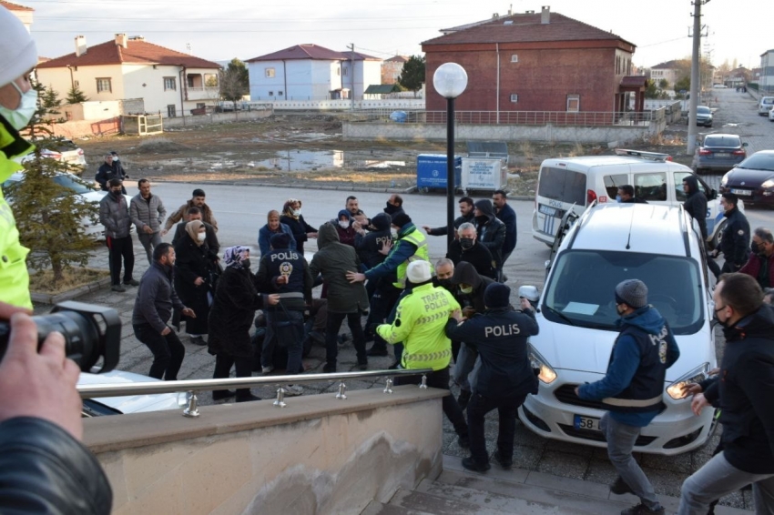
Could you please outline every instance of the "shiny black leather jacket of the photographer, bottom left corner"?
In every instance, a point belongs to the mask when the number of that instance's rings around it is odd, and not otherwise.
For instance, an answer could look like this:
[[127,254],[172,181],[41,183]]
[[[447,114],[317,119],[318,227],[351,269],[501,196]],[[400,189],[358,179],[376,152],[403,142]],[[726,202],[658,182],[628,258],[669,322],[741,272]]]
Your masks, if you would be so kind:
[[0,423],[0,513],[108,515],[110,483],[97,458],[44,419]]

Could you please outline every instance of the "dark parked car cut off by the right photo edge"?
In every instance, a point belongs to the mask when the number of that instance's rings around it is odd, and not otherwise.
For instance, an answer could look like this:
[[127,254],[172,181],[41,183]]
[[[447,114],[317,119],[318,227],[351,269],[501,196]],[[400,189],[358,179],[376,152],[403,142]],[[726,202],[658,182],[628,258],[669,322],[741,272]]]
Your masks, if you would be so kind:
[[761,150],[720,179],[720,193],[735,193],[747,204],[774,206],[774,150]]

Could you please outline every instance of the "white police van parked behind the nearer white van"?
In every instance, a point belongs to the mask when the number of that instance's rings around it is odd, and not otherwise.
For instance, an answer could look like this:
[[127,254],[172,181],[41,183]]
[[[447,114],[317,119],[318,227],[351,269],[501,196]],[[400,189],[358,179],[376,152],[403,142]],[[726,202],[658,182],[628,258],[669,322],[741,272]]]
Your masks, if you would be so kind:
[[[616,203],[618,187],[635,188],[635,197],[657,206],[679,206],[686,200],[683,178],[693,170],[673,163],[667,154],[616,149],[616,156],[558,157],[545,159],[535,189],[532,235],[551,246],[562,217],[572,209],[580,215],[596,200],[599,204]],[[711,247],[726,220],[719,206],[718,192],[698,179],[698,187],[707,197],[707,234]],[[743,209],[743,207],[741,207]]]

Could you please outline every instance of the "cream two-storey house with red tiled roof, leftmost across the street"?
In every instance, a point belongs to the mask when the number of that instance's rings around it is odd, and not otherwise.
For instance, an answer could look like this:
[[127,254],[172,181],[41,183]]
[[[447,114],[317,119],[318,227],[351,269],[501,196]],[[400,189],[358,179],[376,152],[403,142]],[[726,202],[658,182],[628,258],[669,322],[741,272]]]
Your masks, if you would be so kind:
[[78,35],[75,45],[74,53],[37,67],[41,84],[60,97],[76,86],[92,101],[142,98],[146,112],[162,116],[189,115],[219,99],[218,63],[154,45],[141,35],[117,34],[94,46]]

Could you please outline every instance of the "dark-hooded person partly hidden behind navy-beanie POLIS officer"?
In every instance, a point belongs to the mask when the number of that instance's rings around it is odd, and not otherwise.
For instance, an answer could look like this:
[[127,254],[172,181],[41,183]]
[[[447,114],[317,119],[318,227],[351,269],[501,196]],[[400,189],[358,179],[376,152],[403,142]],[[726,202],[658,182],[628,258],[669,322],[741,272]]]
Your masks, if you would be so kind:
[[[484,313],[486,310],[484,291],[494,283],[494,279],[481,277],[473,265],[461,261],[454,267],[452,280],[457,285],[455,298],[462,307],[462,316],[472,318],[477,313]],[[459,341],[456,338],[453,339]],[[460,352],[454,361],[453,380],[455,384],[460,385],[460,397],[457,402],[460,408],[465,409],[471,399],[479,365],[476,361],[478,352],[475,348],[465,345],[464,340],[462,341]]]

